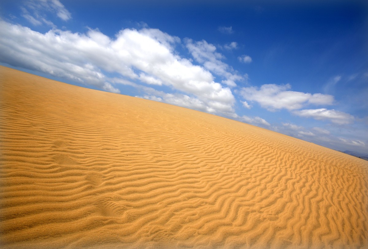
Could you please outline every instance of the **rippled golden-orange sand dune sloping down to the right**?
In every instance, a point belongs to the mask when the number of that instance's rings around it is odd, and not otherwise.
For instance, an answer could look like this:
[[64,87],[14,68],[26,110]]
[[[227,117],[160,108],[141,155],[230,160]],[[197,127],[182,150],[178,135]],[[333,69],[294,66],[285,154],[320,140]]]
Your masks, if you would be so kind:
[[368,248],[368,162],[0,68],[2,248]]

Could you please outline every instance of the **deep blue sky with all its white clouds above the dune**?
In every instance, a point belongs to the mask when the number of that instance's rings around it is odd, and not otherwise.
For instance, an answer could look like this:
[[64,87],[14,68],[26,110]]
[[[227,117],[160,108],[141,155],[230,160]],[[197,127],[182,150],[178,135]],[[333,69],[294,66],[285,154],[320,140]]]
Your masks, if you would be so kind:
[[0,63],[368,153],[364,1],[3,0]]

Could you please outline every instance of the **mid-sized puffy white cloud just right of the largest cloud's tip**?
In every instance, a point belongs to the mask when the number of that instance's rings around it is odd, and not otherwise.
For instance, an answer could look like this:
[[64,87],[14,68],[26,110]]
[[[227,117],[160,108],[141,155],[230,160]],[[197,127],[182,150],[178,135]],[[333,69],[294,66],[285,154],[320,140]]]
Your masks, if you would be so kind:
[[279,109],[295,110],[300,109],[307,104],[331,105],[334,101],[332,95],[321,93],[302,93],[297,91],[288,91],[291,86],[265,84],[258,87],[243,87],[240,94],[248,101],[258,102],[261,107],[269,111]]

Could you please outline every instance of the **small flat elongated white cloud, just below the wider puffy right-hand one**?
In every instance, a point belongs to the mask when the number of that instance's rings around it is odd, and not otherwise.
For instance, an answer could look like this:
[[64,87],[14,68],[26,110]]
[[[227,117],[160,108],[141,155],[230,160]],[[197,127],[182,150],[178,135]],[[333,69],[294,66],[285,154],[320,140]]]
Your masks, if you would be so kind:
[[293,113],[305,118],[314,118],[316,120],[330,120],[332,123],[336,123],[338,125],[346,125],[353,123],[354,121],[354,116],[345,112],[335,111],[334,109],[304,109],[300,111],[293,111]]

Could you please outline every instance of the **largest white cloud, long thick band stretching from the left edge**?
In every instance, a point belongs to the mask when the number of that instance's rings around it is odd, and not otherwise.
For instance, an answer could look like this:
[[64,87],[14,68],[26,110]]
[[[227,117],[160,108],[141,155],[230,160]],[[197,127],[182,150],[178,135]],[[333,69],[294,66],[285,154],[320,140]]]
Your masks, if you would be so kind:
[[[175,94],[162,98],[163,101],[181,106],[187,106],[184,101],[189,101],[194,109],[235,115],[231,90],[214,82],[212,74],[203,67],[180,58],[174,51],[177,42],[180,39],[158,29],[124,29],[110,39],[98,30],[81,34],[52,29],[42,34],[0,21],[1,62],[114,93],[118,92],[114,82],[131,84],[141,80],[166,85],[184,94],[178,101],[174,101]],[[123,79],[109,79],[105,72],[118,73]],[[200,104],[193,104],[197,102]]]

